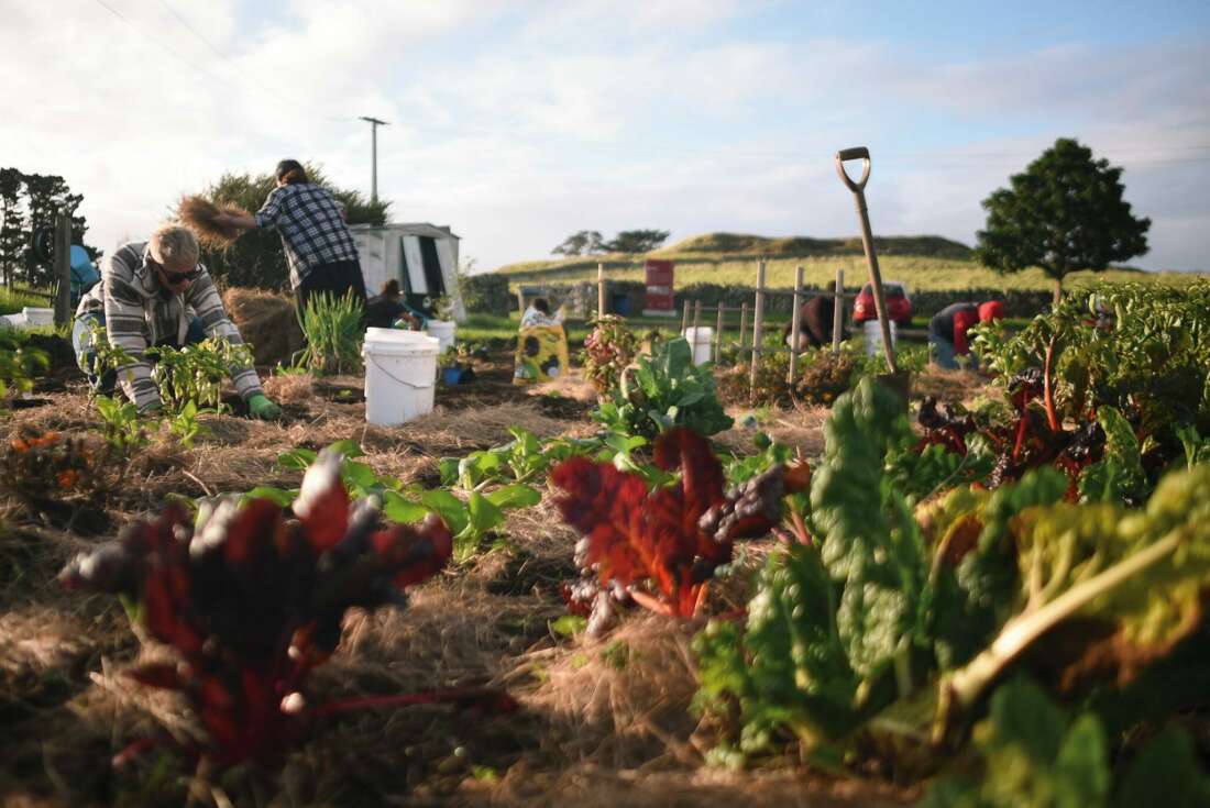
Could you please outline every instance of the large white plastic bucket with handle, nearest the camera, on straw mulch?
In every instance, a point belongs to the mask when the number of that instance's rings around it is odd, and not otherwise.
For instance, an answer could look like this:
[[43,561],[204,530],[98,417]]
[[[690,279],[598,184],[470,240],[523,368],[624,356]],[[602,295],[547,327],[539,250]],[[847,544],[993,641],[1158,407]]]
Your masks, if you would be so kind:
[[398,426],[433,410],[438,341],[416,331],[365,331],[365,420]]

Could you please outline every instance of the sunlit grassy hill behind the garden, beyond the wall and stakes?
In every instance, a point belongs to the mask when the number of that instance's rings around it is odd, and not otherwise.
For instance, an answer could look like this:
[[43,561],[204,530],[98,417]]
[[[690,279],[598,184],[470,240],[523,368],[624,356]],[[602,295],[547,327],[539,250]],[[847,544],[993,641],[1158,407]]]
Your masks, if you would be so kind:
[[[1051,289],[1041,270],[1001,276],[970,258],[970,248],[940,236],[885,236],[875,238],[882,277],[901,281],[912,289]],[[766,282],[774,288],[794,287],[795,267],[803,267],[808,285],[831,282],[845,270],[846,285],[866,276],[860,238],[766,238],[742,233],[707,233],[678,242],[647,255],[586,255],[559,260],[524,261],[496,270],[511,283],[571,283],[595,281],[597,264],[617,281],[643,281],[647,258],[676,262],[676,285],[721,283],[755,285],[756,262],[767,256]],[[1203,277],[1192,272],[1142,272],[1111,269],[1077,272],[1066,285],[1105,281],[1151,281],[1185,285]]]

